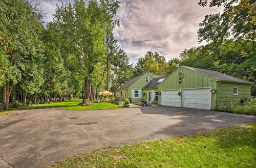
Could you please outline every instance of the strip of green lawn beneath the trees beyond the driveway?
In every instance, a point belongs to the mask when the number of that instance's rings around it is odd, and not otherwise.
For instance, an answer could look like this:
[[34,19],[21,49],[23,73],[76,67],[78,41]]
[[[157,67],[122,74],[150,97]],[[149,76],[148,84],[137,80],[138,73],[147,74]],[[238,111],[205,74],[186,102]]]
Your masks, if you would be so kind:
[[62,101],[62,102],[56,102],[56,103],[47,103],[47,104],[38,104],[38,105],[31,105],[31,106],[25,106],[23,108],[15,108],[10,109],[7,111],[2,111],[0,114],[9,113],[11,111],[16,110],[22,110],[22,109],[36,109],[36,108],[65,108],[68,110],[96,110],[96,109],[114,109],[114,108],[120,108],[119,105],[113,104],[113,103],[92,103],[93,105],[90,106],[81,106],[77,105],[78,103],[81,103],[82,99],[76,99],[73,101]]

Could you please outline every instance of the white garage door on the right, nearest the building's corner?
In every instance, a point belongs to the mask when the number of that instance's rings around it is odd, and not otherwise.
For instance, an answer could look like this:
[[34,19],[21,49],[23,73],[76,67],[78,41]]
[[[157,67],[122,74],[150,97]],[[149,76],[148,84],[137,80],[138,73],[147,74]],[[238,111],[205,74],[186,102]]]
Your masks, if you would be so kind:
[[209,88],[183,89],[183,107],[210,109],[211,93]]

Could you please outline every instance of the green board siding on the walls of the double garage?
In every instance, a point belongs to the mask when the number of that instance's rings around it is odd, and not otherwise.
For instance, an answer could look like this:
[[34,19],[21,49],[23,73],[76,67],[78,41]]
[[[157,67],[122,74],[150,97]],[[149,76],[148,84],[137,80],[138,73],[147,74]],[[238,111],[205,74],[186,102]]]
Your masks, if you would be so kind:
[[[181,79],[181,83],[179,83],[178,73],[181,71],[184,75]],[[250,86],[250,83],[219,81],[216,78],[185,67],[179,67],[158,85],[158,91],[189,88],[215,89],[217,90],[217,93],[211,94],[211,109],[214,109],[217,105],[227,104],[230,101],[233,103],[239,103],[243,96],[249,97]],[[238,95],[233,95],[234,87],[238,88]],[[158,104],[161,104],[161,96],[158,96]]]

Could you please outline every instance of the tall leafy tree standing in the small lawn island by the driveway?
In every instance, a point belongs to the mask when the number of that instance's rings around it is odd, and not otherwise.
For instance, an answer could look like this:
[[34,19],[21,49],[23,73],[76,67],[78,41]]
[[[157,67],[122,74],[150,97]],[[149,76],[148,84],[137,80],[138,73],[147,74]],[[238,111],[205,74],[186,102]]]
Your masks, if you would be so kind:
[[92,98],[93,72],[105,59],[104,36],[109,27],[118,23],[114,17],[119,8],[118,1],[76,0],[74,5],[57,6],[54,24],[60,32],[61,46],[73,54],[84,75],[86,98]]

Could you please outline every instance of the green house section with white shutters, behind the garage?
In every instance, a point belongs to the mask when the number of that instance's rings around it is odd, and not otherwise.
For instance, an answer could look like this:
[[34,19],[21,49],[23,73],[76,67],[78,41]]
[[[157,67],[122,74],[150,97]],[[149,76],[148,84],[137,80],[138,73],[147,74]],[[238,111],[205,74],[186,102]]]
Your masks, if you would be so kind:
[[[124,98],[130,98],[132,103],[140,102],[142,98],[142,90],[153,79],[162,77],[152,73],[143,73],[135,78],[126,81],[117,91],[116,99],[123,101]],[[157,91],[157,88],[155,88]],[[151,89],[152,91],[152,89]],[[152,92],[153,93],[153,92]]]

